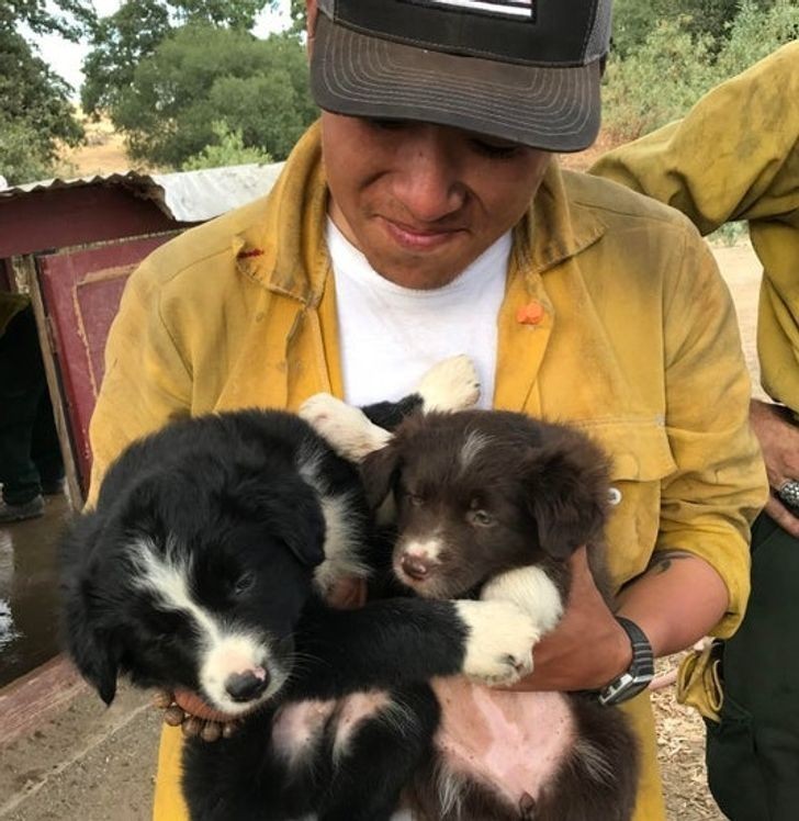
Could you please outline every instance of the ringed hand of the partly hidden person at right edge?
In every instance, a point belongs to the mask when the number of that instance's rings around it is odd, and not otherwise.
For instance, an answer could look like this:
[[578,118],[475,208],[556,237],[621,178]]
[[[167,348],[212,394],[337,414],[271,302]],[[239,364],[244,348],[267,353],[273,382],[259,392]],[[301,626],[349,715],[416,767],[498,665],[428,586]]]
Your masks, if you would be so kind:
[[[799,480],[799,428],[790,420],[789,412],[779,405],[752,400],[750,421],[766,462],[768,484],[773,490],[787,480]],[[799,538],[799,517],[773,493],[766,513],[791,536]]]

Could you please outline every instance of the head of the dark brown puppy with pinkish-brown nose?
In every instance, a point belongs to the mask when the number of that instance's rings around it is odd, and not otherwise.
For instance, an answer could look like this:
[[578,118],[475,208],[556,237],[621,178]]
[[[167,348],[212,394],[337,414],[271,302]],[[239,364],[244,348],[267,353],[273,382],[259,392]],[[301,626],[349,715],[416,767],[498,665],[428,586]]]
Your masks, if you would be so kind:
[[431,598],[476,594],[497,573],[563,563],[601,537],[607,460],[583,435],[520,414],[409,418],[367,457],[376,507],[394,492],[397,578]]

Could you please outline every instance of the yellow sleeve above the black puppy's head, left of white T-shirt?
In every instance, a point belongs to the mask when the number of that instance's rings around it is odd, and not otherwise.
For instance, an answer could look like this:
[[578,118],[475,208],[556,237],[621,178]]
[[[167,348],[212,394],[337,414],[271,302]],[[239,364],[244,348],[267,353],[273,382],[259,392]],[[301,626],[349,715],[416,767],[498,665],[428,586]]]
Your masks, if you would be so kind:
[[111,326],[105,375],[89,426],[89,505],[109,464],[127,445],[189,415],[190,368],[164,323],[160,291],[145,261],[131,275]]

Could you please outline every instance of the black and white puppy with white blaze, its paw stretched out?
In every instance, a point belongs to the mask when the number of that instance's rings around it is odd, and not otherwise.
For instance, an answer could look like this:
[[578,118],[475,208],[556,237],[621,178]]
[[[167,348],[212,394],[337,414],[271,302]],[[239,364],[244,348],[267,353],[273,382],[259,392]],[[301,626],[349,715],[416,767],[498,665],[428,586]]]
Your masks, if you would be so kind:
[[192,818],[389,819],[438,720],[426,683],[529,672],[534,629],[511,604],[328,607],[368,573],[371,537],[353,465],[261,410],[133,443],[65,537],[67,649],[106,704],[126,675],[248,715],[233,739],[187,744]]

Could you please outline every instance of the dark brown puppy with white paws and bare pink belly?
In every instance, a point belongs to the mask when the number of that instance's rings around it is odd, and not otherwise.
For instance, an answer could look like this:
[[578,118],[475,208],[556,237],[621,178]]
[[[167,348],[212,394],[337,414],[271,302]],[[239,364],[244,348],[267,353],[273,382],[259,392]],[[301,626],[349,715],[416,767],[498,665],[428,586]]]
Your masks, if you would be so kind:
[[[571,583],[566,560],[578,547],[588,546],[594,574],[606,586],[607,458],[573,427],[521,414],[464,410],[415,414],[386,438],[357,408],[326,395],[313,397],[302,413],[338,452],[361,462],[372,506],[393,497],[397,536],[386,564],[417,596],[514,601],[541,637],[563,614]],[[491,718],[480,723],[481,738],[470,755],[453,756],[463,742],[448,744],[439,733],[436,755],[408,791],[418,817],[627,821],[637,791],[638,750],[624,716],[589,696],[563,695],[559,701],[551,695],[547,710],[565,713],[558,730],[564,743],[548,747],[554,766],[542,775],[529,761],[534,753],[509,747],[507,730],[495,731]],[[460,696],[470,698],[468,690]],[[481,704],[487,704],[486,716],[497,712],[502,698],[480,697],[463,710],[462,722],[474,721]],[[526,756],[530,772],[520,776]],[[493,765],[486,769],[487,757]]]

